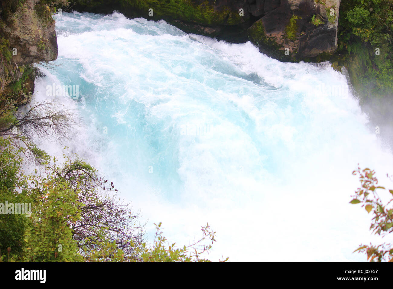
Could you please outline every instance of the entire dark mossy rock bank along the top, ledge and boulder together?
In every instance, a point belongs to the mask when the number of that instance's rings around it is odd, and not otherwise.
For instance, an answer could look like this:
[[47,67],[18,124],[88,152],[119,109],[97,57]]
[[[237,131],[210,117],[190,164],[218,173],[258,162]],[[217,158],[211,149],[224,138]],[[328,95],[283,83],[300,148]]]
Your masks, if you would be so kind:
[[229,42],[251,40],[283,61],[332,53],[337,48],[340,0],[76,0],[71,9],[119,10]]

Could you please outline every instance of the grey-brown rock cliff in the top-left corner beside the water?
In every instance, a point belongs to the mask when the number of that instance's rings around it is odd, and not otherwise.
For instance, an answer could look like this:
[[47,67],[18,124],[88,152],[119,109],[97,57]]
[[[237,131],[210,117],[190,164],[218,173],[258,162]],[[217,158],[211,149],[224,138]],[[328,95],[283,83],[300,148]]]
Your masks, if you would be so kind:
[[57,59],[55,21],[39,0],[4,1],[0,15],[0,94],[34,88],[32,63]]

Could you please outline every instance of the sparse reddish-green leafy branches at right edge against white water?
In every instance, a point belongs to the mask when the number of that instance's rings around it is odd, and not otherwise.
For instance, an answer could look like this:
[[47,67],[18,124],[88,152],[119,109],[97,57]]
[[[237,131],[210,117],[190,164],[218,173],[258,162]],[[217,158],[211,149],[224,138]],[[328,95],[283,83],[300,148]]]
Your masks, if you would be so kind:
[[[393,232],[393,190],[386,190],[382,186],[378,186],[378,180],[375,177],[375,171],[365,168],[361,170],[358,168],[353,171],[353,175],[358,175],[360,180],[360,188],[355,192],[354,199],[351,204],[362,204],[367,213],[373,212],[373,219],[371,222],[370,230],[374,234],[381,237],[387,236]],[[377,191],[386,193],[390,201],[386,204],[382,202],[378,196]],[[375,246],[370,244],[360,245],[354,252],[365,252],[367,260],[374,261],[389,261],[393,262],[393,247],[390,243],[383,243]]]

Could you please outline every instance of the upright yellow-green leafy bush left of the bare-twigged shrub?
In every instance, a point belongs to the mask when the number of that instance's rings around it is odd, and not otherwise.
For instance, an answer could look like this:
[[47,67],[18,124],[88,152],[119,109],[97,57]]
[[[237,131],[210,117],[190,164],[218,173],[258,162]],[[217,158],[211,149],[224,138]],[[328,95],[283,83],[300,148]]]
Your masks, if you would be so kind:
[[53,171],[45,177],[30,176],[29,180],[34,184],[31,195],[35,202],[32,225],[24,234],[23,261],[83,261],[70,228],[80,218],[79,191],[72,190],[67,182],[57,180]]

